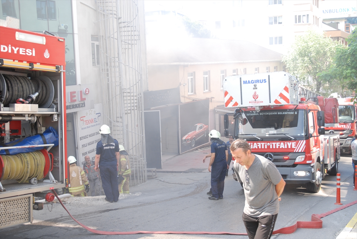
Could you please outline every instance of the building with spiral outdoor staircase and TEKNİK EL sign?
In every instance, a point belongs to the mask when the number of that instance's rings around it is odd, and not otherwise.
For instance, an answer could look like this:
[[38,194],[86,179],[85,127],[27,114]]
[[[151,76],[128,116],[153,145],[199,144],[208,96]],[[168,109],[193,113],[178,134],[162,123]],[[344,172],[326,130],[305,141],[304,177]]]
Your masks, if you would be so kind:
[[[111,25],[118,15],[121,22]],[[107,124],[136,165],[132,183],[144,182],[144,116],[138,113],[147,87],[144,2],[3,0],[0,19],[2,25],[65,38],[67,155],[80,165],[85,155],[94,160],[99,128]],[[115,39],[108,34],[114,29]]]

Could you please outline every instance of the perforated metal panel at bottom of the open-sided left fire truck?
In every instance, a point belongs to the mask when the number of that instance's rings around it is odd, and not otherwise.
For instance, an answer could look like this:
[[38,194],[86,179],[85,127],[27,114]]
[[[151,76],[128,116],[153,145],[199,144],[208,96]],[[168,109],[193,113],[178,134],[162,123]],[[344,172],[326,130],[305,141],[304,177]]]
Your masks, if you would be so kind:
[[32,194],[0,199],[0,228],[32,221]]

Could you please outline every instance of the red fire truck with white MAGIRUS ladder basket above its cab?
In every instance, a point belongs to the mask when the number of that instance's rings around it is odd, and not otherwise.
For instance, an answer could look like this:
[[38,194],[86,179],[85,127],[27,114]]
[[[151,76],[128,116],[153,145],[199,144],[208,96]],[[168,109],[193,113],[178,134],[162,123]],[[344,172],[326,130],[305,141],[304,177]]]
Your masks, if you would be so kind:
[[[228,76],[223,91],[225,107],[236,108],[225,115],[225,136],[246,140],[286,183],[317,193],[327,173],[337,174],[340,135],[325,135],[323,128],[325,119],[338,122],[336,99],[298,99],[298,81],[286,72]],[[228,132],[232,121],[234,132]]]

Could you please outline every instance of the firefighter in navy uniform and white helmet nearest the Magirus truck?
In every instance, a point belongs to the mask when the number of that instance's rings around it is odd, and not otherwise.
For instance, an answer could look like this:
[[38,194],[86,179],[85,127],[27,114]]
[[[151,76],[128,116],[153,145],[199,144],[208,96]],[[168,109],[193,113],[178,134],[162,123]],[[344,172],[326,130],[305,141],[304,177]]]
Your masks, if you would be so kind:
[[211,139],[211,153],[203,158],[203,163],[205,163],[206,158],[211,157],[208,165],[208,171],[211,172],[211,189],[207,194],[211,195],[208,199],[218,200],[223,199],[224,180],[229,167],[227,165],[228,150],[226,144],[220,139],[220,132],[213,129],[208,135]]

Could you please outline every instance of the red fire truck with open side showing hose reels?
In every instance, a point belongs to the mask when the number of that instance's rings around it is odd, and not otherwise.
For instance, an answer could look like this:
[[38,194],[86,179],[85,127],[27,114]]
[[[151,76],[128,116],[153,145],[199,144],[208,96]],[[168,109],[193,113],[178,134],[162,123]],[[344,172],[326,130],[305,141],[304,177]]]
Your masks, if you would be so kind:
[[51,201],[48,191],[67,185],[65,40],[0,26],[0,45],[0,228],[5,228],[31,222],[32,210],[43,208],[34,197]]

